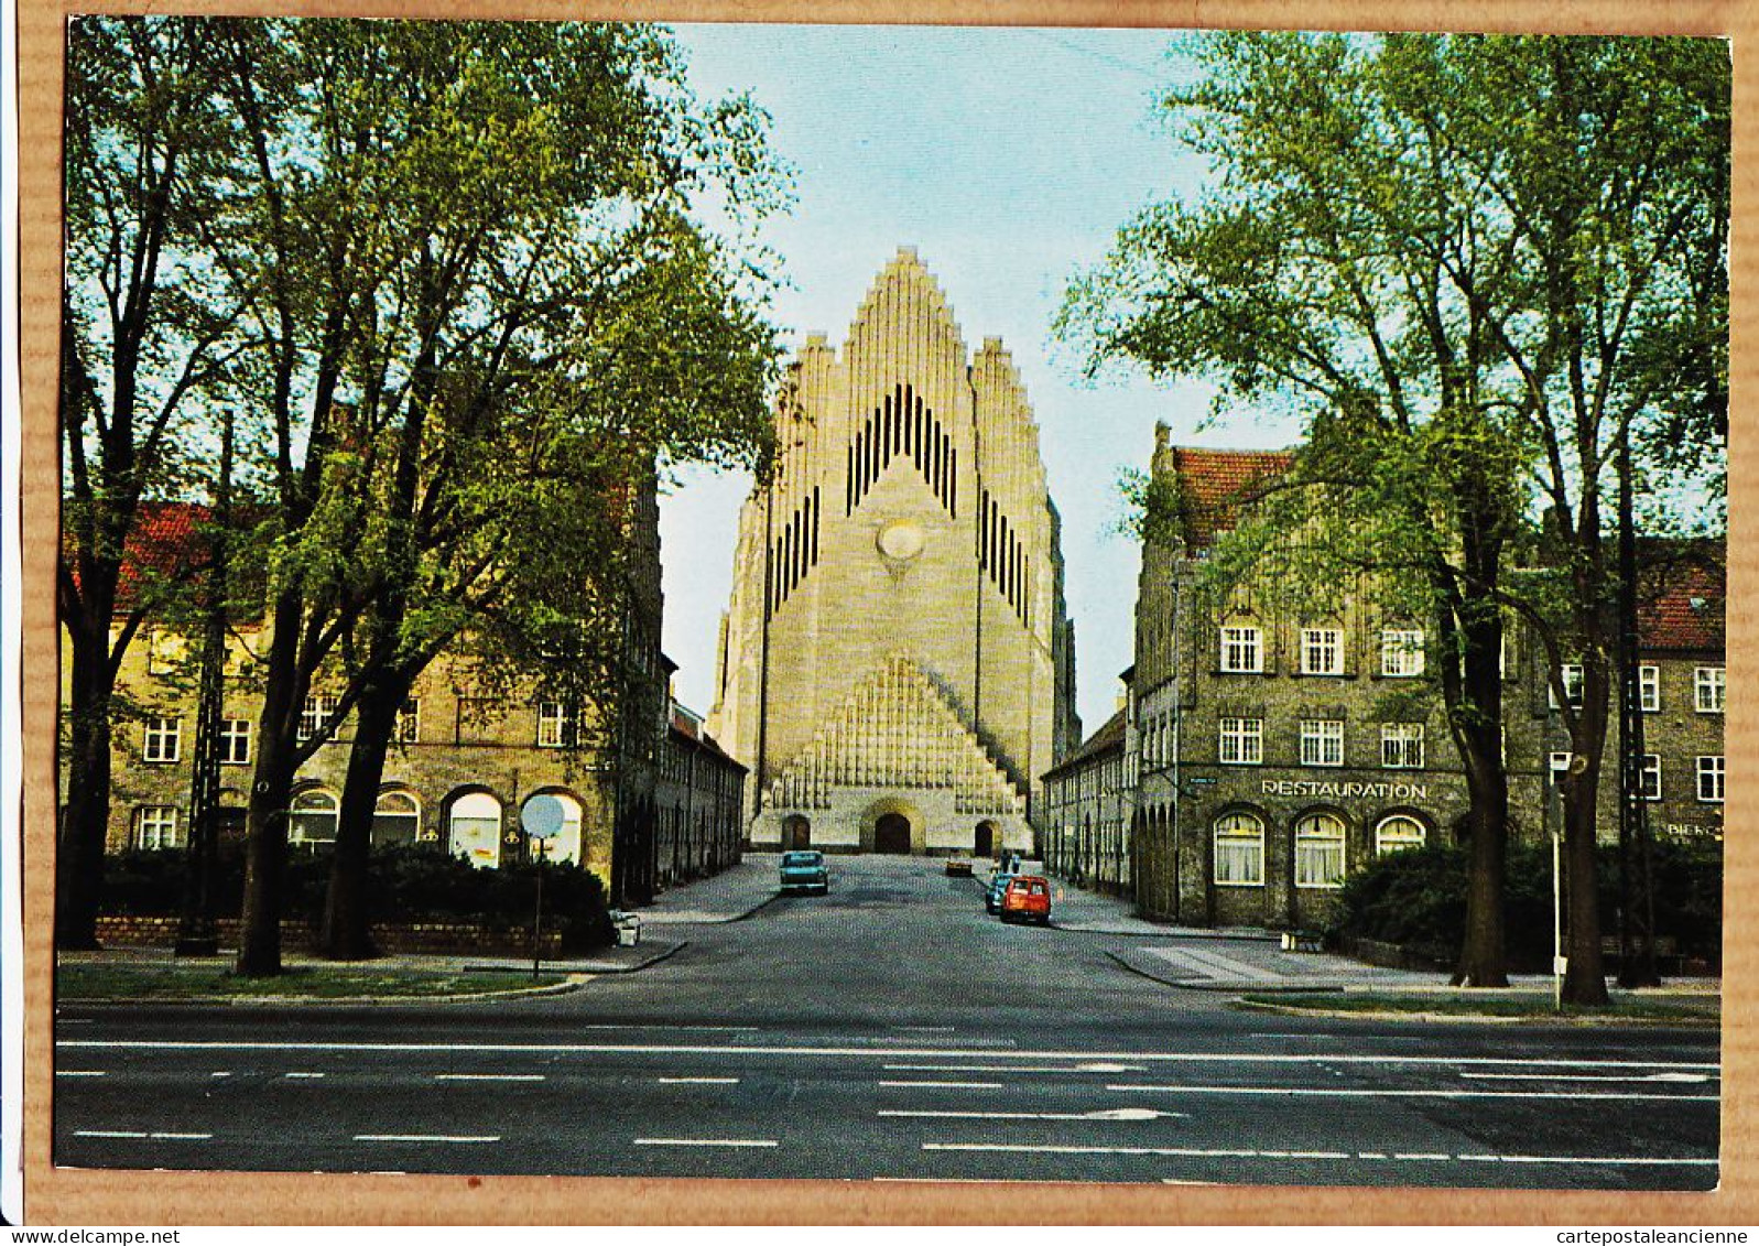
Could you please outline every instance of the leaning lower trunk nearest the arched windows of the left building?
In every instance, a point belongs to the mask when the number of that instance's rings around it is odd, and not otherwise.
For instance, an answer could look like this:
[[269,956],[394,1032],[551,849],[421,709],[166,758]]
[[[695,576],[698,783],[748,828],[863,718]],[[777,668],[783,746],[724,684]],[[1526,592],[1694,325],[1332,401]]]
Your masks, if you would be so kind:
[[331,961],[364,961],[378,954],[373,947],[371,913],[366,903],[368,857],[373,848],[378,785],[385,776],[385,753],[405,697],[408,685],[399,681],[369,686],[355,702],[354,744],[348,748],[336,854],[331,857],[329,891],[324,899],[320,952]]

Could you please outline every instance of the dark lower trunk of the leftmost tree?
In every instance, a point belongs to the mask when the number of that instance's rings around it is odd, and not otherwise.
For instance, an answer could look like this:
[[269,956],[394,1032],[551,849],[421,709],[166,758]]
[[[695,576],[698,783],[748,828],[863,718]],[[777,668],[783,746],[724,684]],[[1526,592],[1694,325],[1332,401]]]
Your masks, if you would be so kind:
[[[72,628],[69,628],[72,632]],[[55,947],[99,945],[104,847],[109,834],[111,692],[109,630],[74,634],[67,746],[67,813],[55,852]]]

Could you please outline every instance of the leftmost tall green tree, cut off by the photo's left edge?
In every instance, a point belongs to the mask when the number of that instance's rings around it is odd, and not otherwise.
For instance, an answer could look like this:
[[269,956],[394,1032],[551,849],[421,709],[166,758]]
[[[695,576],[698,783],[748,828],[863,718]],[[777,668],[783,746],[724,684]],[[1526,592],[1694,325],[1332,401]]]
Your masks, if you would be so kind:
[[116,672],[179,590],[176,568],[155,574],[157,533],[142,519],[199,473],[209,403],[241,348],[236,306],[197,259],[206,187],[237,155],[215,77],[202,28],[69,25],[56,614],[69,639],[74,781],[56,841],[62,949],[97,942]]

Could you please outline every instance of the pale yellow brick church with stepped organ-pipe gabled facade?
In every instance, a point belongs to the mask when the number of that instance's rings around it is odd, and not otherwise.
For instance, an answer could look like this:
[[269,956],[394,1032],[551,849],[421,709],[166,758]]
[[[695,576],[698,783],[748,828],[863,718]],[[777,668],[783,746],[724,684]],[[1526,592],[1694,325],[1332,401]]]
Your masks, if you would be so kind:
[[966,354],[909,248],[839,354],[813,334],[779,470],[739,516],[709,730],[756,848],[1031,850],[1078,741],[1038,428],[999,338]]

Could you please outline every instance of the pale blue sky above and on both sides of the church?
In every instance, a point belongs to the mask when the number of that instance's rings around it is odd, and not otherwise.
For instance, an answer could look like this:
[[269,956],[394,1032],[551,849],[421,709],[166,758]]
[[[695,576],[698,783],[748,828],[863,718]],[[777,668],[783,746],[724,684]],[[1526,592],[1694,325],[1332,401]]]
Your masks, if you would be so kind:
[[[1286,424],[1230,419],[1198,433],[1210,391],[1119,377],[1087,384],[1050,322],[1071,275],[1099,262],[1138,208],[1191,194],[1201,165],[1152,120],[1173,81],[1168,32],[948,26],[675,26],[704,97],[751,92],[797,174],[765,229],[792,289],[790,345],[839,343],[901,245],[941,282],[967,348],[1001,336],[1038,417],[1075,618],[1084,730],[1112,713],[1131,662],[1136,549],[1117,535],[1124,466],[1147,465],[1154,422],[1205,445],[1286,445]],[[677,695],[712,702],[714,637],[749,480],[690,473],[661,503],[665,646]]]

